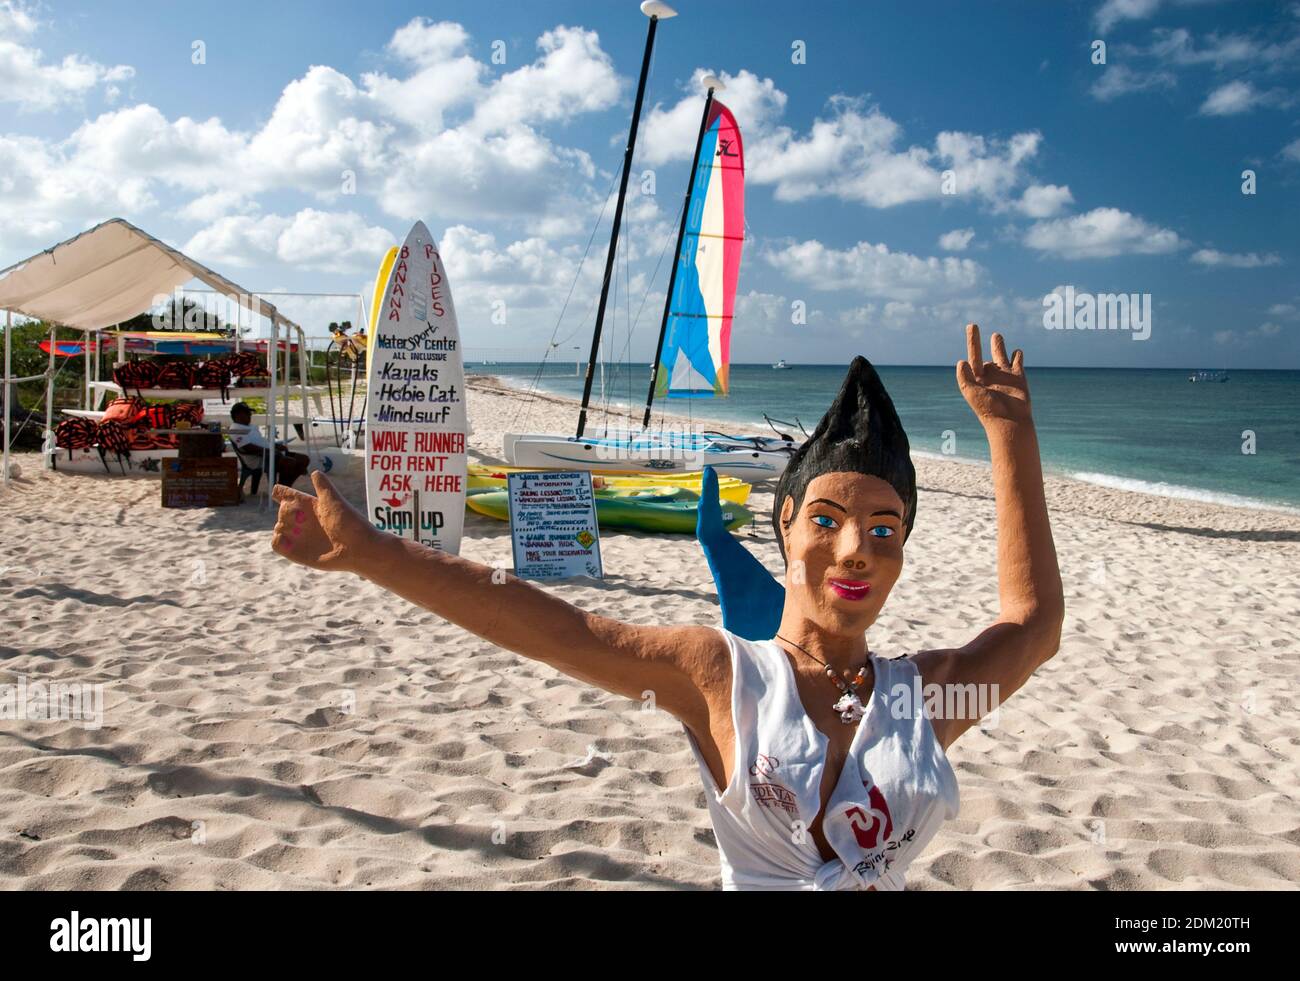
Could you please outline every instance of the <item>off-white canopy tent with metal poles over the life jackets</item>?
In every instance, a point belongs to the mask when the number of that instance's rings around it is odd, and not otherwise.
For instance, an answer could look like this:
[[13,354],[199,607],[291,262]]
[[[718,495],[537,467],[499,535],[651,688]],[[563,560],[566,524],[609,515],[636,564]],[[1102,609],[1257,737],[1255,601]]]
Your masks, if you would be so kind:
[[[155,307],[160,299],[178,287],[198,279],[214,292],[235,300],[240,308],[265,317],[270,322],[270,342],[266,346],[270,368],[270,391],[266,414],[274,442],[277,383],[276,356],[280,351],[281,331],[285,350],[290,350],[294,331],[298,334],[299,352],[306,350],[303,329],[283,317],[261,296],[252,294],[202,262],[196,262],[148,233],[122,218],[105,221],[81,235],[60,242],[31,259],[0,270],[0,309],[5,311],[4,335],[4,486],[9,485],[9,420],[10,401],[8,385],[46,378],[46,418],[52,424],[55,398],[55,333],[53,325],[90,331],[121,324]],[[10,347],[13,314],[48,321],[51,326],[49,366],[44,376],[12,378]],[[286,356],[287,357],[287,356]],[[287,360],[286,360],[287,365]],[[307,407],[306,373],[299,373],[303,386],[303,407]],[[289,429],[289,399],[283,400],[285,430]],[[311,426],[304,429],[304,439],[311,452]],[[47,450],[52,448],[47,433]],[[47,465],[49,456],[46,457]],[[269,486],[276,485],[276,455],[270,453]]]

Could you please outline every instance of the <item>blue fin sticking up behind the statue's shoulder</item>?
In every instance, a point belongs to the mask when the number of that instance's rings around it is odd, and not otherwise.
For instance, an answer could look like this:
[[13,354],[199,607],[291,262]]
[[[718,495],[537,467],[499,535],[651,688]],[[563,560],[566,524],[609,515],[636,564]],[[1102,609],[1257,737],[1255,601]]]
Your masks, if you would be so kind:
[[723,525],[718,474],[705,468],[696,538],[718,587],[723,628],[746,641],[771,641],[781,625],[785,587]]

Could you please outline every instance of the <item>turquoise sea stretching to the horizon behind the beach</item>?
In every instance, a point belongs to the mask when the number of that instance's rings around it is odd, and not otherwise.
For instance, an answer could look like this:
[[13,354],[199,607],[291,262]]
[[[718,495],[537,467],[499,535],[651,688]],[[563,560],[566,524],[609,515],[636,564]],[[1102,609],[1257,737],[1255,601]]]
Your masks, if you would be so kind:
[[[580,398],[572,361],[469,363],[517,386]],[[724,399],[671,399],[680,414],[770,431],[763,413],[811,431],[846,365],[732,365]],[[1253,507],[1300,507],[1300,372],[1231,372],[1190,382],[1192,369],[1031,368],[1030,395],[1049,472],[1110,487]],[[984,431],[952,368],[879,366],[913,451],[988,460]],[[649,365],[608,365],[592,403],[644,404]],[[655,418],[658,420],[656,403]],[[592,417],[601,425],[599,414]],[[576,422],[576,418],[575,418]],[[594,431],[590,427],[589,430]],[[798,435],[798,431],[794,431]],[[950,435],[948,435],[950,434]],[[1253,434],[1253,439],[1252,439]],[[1243,452],[1243,447],[1253,452]]]

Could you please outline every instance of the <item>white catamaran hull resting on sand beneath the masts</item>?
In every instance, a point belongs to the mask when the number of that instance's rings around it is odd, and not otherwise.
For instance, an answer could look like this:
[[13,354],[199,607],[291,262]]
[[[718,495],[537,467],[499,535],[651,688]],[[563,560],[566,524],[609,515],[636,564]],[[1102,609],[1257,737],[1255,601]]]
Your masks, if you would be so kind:
[[785,450],[690,450],[514,433],[506,434],[504,451],[511,465],[536,466],[540,470],[690,473],[712,466],[724,477],[740,477],[750,482],[780,477],[790,459]]

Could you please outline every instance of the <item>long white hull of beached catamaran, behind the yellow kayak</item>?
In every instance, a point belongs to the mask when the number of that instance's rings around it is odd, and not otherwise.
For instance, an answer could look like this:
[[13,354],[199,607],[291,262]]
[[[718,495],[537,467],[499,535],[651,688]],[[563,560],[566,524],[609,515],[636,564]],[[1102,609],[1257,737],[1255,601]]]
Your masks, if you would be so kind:
[[780,437],[646,430],[601,437],[507,433],[506,459],[514,466],[575,470],[689,473],[712,466],[724,477],[768,481],[781,476],[797,443]]

